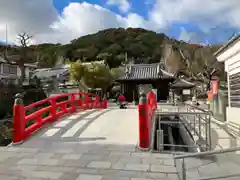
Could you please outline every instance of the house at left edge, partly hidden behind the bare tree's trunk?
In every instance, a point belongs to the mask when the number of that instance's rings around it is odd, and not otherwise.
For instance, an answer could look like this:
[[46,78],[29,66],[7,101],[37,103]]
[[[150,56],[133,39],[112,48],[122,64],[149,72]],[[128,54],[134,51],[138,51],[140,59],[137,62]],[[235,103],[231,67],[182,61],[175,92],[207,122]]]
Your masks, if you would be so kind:
[[[24,84],[29,83],[29,79],[33,71],[37,69],[36,64],[25,64],[26,80]],[[12,82],[17,84],[21,76],[21,70],[15,62],[8,63],[6,60],[0,57],[0,81],[2,83]]]

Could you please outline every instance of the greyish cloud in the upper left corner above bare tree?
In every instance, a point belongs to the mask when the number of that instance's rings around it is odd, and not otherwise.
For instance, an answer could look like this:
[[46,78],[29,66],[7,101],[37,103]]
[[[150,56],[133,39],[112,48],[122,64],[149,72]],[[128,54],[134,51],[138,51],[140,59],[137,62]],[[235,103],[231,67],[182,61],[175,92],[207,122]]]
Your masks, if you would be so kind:
[[49,0],[0,0],[0,39],[5,40],[6,25],[12,42],[22,32],[50,33],[49,25],[57,18],[58,13]]

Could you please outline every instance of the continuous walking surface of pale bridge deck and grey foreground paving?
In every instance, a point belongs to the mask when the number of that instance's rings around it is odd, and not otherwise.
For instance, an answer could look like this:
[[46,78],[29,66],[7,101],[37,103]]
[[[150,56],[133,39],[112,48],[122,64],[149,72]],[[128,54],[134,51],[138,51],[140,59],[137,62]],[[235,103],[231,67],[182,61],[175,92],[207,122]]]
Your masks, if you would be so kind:
[[0,148],[2,180],[175,180],[170,154],[139,152],[137,109],[78,112]]

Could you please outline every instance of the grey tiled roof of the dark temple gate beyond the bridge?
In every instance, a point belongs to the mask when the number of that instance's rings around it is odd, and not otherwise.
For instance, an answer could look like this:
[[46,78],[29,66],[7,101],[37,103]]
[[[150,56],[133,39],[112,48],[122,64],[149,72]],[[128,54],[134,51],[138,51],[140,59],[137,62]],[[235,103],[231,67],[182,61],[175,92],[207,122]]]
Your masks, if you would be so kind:
[[154,64],[129,64],[125,67],[125,73],[119,80],[137,79],[169,79],[174,75],[164,71],[160,63]]

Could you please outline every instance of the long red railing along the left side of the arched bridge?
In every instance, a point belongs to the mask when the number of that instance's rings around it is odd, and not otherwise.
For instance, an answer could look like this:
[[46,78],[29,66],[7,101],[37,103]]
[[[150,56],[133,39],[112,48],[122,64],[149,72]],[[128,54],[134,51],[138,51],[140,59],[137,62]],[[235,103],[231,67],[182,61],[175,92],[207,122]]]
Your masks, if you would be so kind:
[[51,96],[24,106],[22,95],[17,94],[13,107],[13,143],[23,142],[45,124],[77,109],[103,109],[107,106],[107,100],[100,102],[97,95],[83,92]]

